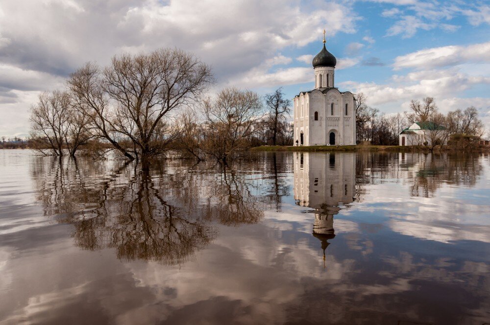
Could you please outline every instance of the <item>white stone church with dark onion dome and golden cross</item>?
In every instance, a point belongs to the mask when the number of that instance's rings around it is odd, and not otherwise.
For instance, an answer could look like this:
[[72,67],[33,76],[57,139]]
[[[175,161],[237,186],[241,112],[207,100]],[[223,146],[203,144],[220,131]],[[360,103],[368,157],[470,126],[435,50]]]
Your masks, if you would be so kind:
[[335,88],[337,59],[325,47],[313,59],[315,89],[294,97],[294,145],[355,145],[355,98]]

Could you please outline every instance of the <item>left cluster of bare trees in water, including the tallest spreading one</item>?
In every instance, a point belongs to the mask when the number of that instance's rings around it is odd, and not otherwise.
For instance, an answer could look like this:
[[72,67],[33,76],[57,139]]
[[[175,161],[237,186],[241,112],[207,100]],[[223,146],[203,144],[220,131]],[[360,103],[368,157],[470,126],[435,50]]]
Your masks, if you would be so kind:
[[214,81],[209,66],[179,49],[115,56],[105,68],[87,63],[67,90],[44,93],[31,109],[38,149],[74,156],[98,139],[129,160],[147,162],[178,136],[172,113],[198,101]]

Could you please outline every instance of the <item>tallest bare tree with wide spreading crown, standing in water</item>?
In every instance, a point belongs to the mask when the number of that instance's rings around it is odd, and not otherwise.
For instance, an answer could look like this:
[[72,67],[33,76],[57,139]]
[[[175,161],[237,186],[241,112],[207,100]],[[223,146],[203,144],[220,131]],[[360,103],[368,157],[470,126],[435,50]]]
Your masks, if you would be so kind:
[[86,64],[71,75],[69,85],[98,136],[145,164],[177,138],[171,113],[195,103],[213,81],[211,69],[194,55],[158,49],[115,56],[103,70]]

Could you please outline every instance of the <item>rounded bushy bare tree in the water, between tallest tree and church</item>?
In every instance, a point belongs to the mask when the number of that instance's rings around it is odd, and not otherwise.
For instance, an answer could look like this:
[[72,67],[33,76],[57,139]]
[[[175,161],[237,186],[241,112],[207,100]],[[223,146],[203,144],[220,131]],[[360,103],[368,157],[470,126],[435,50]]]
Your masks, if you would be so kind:
[[204,151],[226,163],[249,147],[262,101],[257,93],[226,88],[204,101],[203,113],[207,121]]

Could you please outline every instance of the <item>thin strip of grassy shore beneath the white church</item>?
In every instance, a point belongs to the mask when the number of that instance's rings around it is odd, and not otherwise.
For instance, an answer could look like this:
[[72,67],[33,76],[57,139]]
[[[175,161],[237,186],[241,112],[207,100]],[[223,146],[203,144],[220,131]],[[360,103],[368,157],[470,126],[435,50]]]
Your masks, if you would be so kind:
[[400,145],[263,145],[251,148],[252,151],[427,151],[424,147]]

